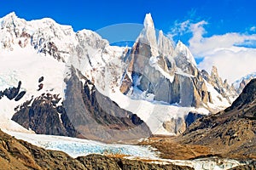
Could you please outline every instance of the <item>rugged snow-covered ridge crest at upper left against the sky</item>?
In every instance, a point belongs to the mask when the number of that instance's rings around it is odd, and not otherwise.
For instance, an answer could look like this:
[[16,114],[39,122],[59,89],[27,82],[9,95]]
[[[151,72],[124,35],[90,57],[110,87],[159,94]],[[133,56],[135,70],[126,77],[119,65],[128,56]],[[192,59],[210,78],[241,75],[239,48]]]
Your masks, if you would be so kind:
[[1,48],[12,51],[16,44],[21,48],[31,45],[38,53],[52,55],[64,62],[67,62],[81,37],[92,48],[108,45],[108,41],[102,40],[94,31],[74,32],[72,26],[62,26],[49,18],[26,21],[11,13],[1,19],[1,28]]

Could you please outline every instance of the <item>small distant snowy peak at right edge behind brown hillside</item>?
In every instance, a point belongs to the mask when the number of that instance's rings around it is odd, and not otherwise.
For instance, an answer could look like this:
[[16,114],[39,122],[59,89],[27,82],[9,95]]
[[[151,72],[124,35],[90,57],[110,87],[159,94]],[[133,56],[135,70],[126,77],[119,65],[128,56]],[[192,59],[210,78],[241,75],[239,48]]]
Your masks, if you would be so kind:
[[233,86],[236,88],[237,94],[241,94],[242,89],[246,87],[247,83],[250,82],[253,78],[256,78],[256,72],[241,77],[239,80],[233,82]]

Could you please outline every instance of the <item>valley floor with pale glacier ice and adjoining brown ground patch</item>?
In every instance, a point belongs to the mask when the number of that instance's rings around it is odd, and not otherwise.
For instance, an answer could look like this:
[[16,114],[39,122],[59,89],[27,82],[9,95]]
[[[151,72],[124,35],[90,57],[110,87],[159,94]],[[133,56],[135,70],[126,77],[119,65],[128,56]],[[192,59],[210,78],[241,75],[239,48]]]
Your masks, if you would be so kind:
[[[161,165],[174,164],[195,169],[230,169],[249,161],[212,156],[212,150],[201,145],[177,144],[170,137],[144,139],[140,144],[104,144],[87,139],[42,135],[32,133],[7,132],[17,139],[26,140],[47,150],[61,150],[73,158],[100,154],[113,158],[128,158]],[[154,148],[152,148],[151,146]]]

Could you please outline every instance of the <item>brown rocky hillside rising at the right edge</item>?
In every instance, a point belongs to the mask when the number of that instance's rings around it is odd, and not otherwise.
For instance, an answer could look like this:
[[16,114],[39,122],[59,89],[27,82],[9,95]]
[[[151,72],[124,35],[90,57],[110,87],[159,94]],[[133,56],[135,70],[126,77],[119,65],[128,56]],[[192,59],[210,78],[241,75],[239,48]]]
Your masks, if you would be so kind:
[[254,79],[225,111],[203,117],[190,125],[183,133],[183,142],[207,144],[224,156],[255,158],[255,94]]

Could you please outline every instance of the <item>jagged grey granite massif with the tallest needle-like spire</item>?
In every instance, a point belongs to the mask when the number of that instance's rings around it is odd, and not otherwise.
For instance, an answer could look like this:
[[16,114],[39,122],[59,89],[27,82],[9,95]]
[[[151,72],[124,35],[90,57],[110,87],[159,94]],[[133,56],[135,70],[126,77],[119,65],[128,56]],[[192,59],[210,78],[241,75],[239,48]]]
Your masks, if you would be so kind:
[[[157,47],[154,24],[151,22],[151,15],[147,14],[144,29],[131,50],[131,60],[123,79],[122,91],[132,95],[133,88],[136,90],[138,88],[151,98],[154,96],[154,100],[167,104],[176,103],[184,107],[207,105],[208,109],[211,109],[212,94],[220,94],[219,88],[230,91],[228,89],[230,87],[224,87],[224,82],[220,78],[213,77],[219,84],[214,86],[218,92],[210,91],[207,88],[207,80],[202,77],[203,74],[196,67],[189,48],[183,42],[177,42],[174,47],[172,41],[165,37],[162,31],[160,31]],[[156,50],[158,53],[155,52]],[[128,88],[131,88],[130,92]],[[230,95],[224,93],[213,98],[220,101],[218,106],[224,102],[229,105],[232,100],[229,99]]]

